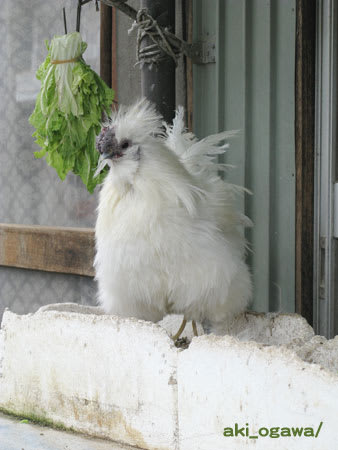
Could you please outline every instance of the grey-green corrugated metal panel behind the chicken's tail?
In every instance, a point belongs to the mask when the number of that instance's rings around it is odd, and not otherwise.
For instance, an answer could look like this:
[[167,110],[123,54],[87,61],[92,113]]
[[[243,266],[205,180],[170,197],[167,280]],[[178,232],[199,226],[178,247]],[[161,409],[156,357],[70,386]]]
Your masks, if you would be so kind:
[[194,0],[194,39],[215,39],[216,64],[194,66],[194,131],[240,129],[227,179],[254,228],[253,308],[295,304],[295,0]]

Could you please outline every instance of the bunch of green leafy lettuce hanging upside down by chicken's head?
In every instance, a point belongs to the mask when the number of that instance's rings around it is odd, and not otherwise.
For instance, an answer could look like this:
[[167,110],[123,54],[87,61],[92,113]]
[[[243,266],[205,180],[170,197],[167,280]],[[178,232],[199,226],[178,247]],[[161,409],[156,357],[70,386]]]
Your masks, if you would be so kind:
[[72,171],[80,175],[89,192],[102,182],[105,173],[94,177],[99,154],[95,139],[102,114],[108,116],[114,92],[88,66],[82,54],[87,44],[78,32],[55,36],[36,76],[41,80],[35,109],[29,118],[41,150],[61,180]]

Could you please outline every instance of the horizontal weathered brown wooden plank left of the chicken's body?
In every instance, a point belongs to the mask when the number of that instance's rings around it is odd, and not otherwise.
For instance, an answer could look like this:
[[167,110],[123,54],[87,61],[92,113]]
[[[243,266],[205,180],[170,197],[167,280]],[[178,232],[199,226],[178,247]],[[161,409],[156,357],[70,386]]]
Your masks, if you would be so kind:
[[0,265],[94,276],[94,231],[0,224]]

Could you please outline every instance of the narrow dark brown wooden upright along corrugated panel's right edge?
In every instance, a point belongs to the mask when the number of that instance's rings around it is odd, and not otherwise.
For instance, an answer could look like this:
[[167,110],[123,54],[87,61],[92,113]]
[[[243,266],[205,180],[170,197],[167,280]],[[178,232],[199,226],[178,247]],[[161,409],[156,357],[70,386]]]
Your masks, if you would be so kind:
[[316,0],[296,17],[296,311],[312,325]]

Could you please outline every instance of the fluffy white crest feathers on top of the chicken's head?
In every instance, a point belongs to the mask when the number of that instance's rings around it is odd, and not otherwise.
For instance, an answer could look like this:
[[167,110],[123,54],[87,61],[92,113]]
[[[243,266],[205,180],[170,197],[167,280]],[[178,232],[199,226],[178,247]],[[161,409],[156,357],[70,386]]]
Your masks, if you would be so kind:
[[118,140],[128,138],[134,143],[142,143],[147,137],[161,132],[161,120],[155,106],[141,98],[132,106],[120,106],[104,126],[114,128]]

